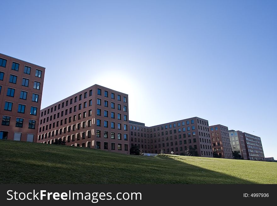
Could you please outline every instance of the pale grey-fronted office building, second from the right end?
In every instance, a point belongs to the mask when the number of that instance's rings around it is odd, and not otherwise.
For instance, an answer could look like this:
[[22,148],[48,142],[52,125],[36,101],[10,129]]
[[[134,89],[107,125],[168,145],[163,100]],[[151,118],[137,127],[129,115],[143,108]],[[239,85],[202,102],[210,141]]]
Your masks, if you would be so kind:
[[238,152],[243,160],[247,160],[242,131],[229,130],[232,151]]

